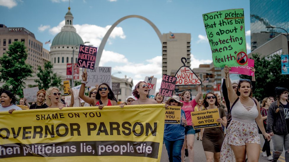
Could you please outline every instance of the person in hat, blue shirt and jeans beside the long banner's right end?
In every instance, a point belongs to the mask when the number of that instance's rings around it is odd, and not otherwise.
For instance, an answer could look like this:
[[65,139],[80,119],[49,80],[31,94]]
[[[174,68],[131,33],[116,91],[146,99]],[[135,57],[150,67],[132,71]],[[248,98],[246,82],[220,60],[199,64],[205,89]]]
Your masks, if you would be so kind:
[[[180,102],[179,96],[174,96],[166,102],[168,106],[182,107],[183,103]],[[183,114],[183,115],[182,115]],[[182,119],[182,116],[184,118]],[[181,124],[165,124],[164,129],[164,142],[168,152],[169,162],[181,162],[181,150],[184,144],[185,138],[185,126],[187,126],[187,120],[185,118],[185,112],[181,109]]]

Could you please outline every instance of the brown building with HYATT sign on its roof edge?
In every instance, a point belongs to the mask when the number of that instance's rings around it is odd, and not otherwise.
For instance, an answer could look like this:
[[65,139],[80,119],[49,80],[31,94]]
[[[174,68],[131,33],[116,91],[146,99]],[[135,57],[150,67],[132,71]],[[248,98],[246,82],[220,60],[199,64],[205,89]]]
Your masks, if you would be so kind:
[[38,66],[43,67],[46,61],[49,61],[49,51],[42,48],[42,42],[36,40],[34,34],[24,27],[7,27],[0,24],[0,57],[9,48],[9,45],[15,41],[25,43],[28,57],[26,63],[32,66],[34,72]]

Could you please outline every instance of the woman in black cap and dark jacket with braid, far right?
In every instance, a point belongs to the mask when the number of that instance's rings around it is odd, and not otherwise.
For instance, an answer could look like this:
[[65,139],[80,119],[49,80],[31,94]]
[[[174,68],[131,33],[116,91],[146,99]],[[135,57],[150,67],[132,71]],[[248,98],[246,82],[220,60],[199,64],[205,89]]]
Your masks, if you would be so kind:
[[285,161],[289,161],[289,101],[288,89],[276,87],[274,101],[267,115],[267,132],[272,136],[273,161],[277,161],[285,148]]

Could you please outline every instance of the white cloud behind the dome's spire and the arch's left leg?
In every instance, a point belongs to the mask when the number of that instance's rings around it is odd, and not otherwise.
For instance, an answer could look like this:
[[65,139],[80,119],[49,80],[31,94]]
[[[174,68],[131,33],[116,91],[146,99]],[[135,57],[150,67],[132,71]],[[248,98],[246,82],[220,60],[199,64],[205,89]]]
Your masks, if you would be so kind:
[[[49,32],[52,35],[55,35],[61,31],[61,28],[65,25],[65,20],[60,22],[56,27],[52,27],[49,29]],[[90,42],[91,45],[94,45],[95,47],[98,47],[100,45],[100,42],[102,38],[105,36],[106,32],[109,30],[111,25],[107,25],[106,27],[99,27],[97,25],[92,24],[76,24],[73,25],[76,28],[77,34],[80,35],[83,41]],[[120,37],[121,39],[125,39],[126,35],[124,35],[124,32],[122,30],[122,27],[115,27],[113,31],[110,34],[110,38],[116,38]],[[108,41],[109,44],[111,42]]]

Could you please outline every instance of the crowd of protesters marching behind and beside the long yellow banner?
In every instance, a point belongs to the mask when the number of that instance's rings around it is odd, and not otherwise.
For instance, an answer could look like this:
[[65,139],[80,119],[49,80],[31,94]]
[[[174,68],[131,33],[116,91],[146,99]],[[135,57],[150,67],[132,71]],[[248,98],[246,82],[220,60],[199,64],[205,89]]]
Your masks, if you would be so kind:
[[[89,91],[89,96],[84,94],[87,84],[87,73],[82,75],[82,82],[79,97],[84,100],[84,107],[96,106],[103,109],[106,106],[119,105],[125,108],[126,105],[143,104],[164,104],[164,107],[181,107],[181,124],[165,124],[164,143],[168,152],[170,162],[184,162],[185,156],[189,161],[194,161],[195,134],[197,140],[201,140],[205,152],[206,161],[259,161],[260,135],[265,140],[263,145],[264,157],[268,160],[277,161],[283,148],[285,148],[285,160],[289,161],[289,101],[288,89],[276,87],[276,98],[268,96],[261,104],[253,98],[255,89],[255,77],[252,80],[240,79],[232,83],[229,78],[231,68],[225,66],[225,78],[221,94],[207,93],[202,97],[201,86],[198,85],[197,95],[191,99],[190,91],[183,91],[180,96],[173,95],[166,98],[159,93],[155,99],[149,98],[148,84],[140,81],[133,89],[132,95],[127,96],[126,101],[117,103],[115,95],[110,86],[103,83]],[[255,71],[251,67],[251,71]],[[200,79],[200,78],[199,78]],[[10,91],[0,89],[1,106],[0,111],[13,113],[21,110],[16,104],[27,106],[29,109],[73,107],[74,94],[71,94],[71,102],[65,104],[61,98],[61,92],[57,87],[50,87],[47,90],[41,89],[37,92],[36,102],[29,104],[25,98],[17,102],[16,97]],[[273,95],[273,94],[272,94]],[[220,117],[217,122],[222,127],[194,129],[191,112],[218,109]],[[228,114],[226,116],[226,114]],[[224,128],[226,129],[226,134]],[[270,140],[272,137],[273,154],[270,153]],[[198,148],[199,149],[199,148]]]

